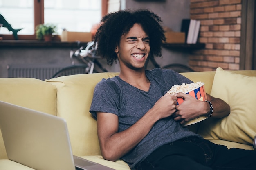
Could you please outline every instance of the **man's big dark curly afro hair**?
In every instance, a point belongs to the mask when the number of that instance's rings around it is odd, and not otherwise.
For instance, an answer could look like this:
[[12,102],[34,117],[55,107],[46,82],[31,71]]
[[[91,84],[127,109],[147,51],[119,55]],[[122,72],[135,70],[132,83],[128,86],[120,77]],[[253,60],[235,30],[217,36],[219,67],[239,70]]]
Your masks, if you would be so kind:
[[106,58],[108,65],[112,65],[114,61],[117,63],[115,48],[121,36],[129,32],[130,28],[137,23],[150,38],[149,57],[161,57],[161,44],[162,41],[166,41],[166,38],[160,22],[162,22],[161,18],[147,9],[120,10],[104,16],[94,37],[94,45],[97,42],[97,55]]

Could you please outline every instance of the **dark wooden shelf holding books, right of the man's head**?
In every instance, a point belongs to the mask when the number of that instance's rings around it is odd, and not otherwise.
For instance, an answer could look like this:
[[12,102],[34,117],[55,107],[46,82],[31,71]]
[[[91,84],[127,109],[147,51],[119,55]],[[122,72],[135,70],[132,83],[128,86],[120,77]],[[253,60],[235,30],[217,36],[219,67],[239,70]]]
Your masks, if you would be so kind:
[[198,50],[205,48],[204,43],[197,44],[186,44],[186,43],[164,43],[162,44],[164,48],[168,48],[170,50]]

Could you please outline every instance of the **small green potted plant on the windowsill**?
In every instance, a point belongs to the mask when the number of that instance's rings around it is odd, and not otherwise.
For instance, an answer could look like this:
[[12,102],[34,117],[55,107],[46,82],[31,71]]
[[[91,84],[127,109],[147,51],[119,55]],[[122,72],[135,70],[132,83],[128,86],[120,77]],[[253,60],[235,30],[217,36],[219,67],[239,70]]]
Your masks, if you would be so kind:
[[55,24],[39,24],[36,26],[36,39],[51,41],[56,29],[57,26]]

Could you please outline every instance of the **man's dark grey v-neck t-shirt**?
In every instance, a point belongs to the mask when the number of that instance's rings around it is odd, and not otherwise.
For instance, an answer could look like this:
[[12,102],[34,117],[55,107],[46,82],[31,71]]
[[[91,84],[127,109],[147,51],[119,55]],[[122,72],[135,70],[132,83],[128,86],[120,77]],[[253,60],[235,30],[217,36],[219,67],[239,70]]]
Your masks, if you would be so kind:
[[[160,68],[146,70],[146,76],[150,81],[148,92],[126,83],[119,76],[103,79],[94,89],[90,113],[95,118],[96,111],[117,115],[121,132],[144,116],[173,85],[192,82],[173,70]],[[190,136],[199,135],[182,127],[170,116],[157,121],[148,135],[121,159],[133,168],[159,146]]]

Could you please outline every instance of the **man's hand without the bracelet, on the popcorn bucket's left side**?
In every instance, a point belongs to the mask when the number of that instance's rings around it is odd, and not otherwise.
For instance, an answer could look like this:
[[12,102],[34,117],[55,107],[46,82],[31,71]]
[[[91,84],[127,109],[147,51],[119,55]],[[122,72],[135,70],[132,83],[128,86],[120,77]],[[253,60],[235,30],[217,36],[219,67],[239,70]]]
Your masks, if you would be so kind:
[[177,96],[166,93],[159,98],[152,109],[155,109],[159,119],[171,116],[176,111]]

